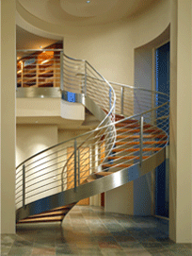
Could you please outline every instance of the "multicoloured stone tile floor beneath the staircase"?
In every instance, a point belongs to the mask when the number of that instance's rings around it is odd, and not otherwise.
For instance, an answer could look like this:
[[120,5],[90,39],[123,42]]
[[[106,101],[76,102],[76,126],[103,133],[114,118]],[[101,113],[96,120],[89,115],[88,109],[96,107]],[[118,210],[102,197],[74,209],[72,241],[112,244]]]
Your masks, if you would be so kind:
[[168,221],[104,213],[101,207],[75,206],[59,223],[23,224],[1,236],[5,255],[192,255],[192,245],[168,239]]

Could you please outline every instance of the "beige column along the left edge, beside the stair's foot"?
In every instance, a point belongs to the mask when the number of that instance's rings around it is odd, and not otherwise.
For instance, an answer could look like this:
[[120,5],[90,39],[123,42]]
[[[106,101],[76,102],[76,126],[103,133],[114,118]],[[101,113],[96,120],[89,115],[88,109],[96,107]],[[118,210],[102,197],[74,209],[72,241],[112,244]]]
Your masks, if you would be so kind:
[[15,0],[1,1],[1,232],[15,233]]

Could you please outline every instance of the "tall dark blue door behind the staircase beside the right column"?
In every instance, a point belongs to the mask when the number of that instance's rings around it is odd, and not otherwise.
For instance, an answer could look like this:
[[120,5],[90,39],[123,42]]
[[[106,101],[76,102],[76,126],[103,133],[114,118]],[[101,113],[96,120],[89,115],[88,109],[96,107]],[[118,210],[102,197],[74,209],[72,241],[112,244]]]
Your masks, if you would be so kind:
[[[156,49],[156,91],[169,94],[169,43]],[[156,98],[156,105],[162,99]],[[161,117],[161,108],[156,112]],[[161,125],[157,122],[157,127]],[[155,215],[168,217],[168,160],[155,170]]]

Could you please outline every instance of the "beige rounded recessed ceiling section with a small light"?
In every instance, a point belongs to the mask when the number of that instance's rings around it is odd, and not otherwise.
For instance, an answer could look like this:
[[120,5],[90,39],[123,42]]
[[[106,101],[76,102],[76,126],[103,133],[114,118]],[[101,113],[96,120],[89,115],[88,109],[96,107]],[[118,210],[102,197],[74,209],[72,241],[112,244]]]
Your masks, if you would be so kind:
[[56,25],[99,25],[138,15],[160,0],[18,0],[34,17]]

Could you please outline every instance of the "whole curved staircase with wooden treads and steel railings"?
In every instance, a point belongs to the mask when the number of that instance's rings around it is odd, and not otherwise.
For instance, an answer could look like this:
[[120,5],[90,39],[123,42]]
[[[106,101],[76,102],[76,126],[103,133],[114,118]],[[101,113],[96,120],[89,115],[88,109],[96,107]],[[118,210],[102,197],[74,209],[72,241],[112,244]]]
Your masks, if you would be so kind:
[[109,83],[87,60],[65,55],[63,74],[61,100],[71,92],[100,124],[17,167],[17,223],[62,221],[79,200],[137,179],[166,158],[167,94]]

